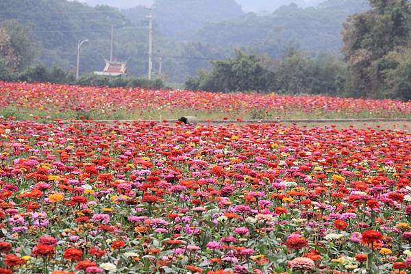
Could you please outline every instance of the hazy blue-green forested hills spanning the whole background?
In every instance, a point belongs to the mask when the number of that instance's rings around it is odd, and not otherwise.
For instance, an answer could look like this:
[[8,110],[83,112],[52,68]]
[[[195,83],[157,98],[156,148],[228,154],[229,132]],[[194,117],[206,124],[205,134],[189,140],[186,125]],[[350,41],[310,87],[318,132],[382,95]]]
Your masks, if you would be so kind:
[[[175,5],[170,5],[170,1]],[[162,77],[173,84],[197,75],[200,69],[210,69],[210,60],[228,58],[234,53],[234,48],[268,52],[275,58],[284,54],[290,45],[303,50],[312,49],[312,54],[320,51],[336,53],[342,43],[340,29],[345,17],[362,8],[352,1],[344,1],[340,5],[333,3],[336,1],[328,1],[335,8],[302,9],[290,5],[269,16],[257,16],[244,14],[234,0],[218,2],[155,1],[155,74],[160,56],[163,57]],[[175,8],[170,9],[171,6]],[[131,75],[147,75],[146,16],[149,10],[141,5],[121,12],[105,5],[92,8],[76,1],[3,0],[0,10],[0,22],[16,20],[27,28],[32,43],[36,45],[36,62],[49,67],[56,64],[64,71],[74,71],[77,42],[88,39],[90,42],[82,47],[80,71],[101,70],[103,56],[108,58],[110,55],[110,27],[114,25],[115,58],[129,60]],[[327,27],[325,22],[329,18],[333,21]],[[287,20],[286,25],[290,26],[287,36],[278,20]],[[221,21],[223,23],[219,23]],[[244,23],[249,24],[248,32],[241,27]],[[217,25],[221,25],[221,32],[214,32]],[[313,33],[321,33],[315,38],[323,41],[318,48],[312,47],[315,42]],[[230,37],[233,42],[225,39]],[[306,48],[304,45],[311,46]]]

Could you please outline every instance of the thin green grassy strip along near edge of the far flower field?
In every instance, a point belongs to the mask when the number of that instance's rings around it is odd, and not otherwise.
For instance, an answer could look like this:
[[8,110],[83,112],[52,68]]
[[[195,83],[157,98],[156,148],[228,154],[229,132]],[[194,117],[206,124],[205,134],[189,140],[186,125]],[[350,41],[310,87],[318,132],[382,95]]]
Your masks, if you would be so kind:
[[192,109],[175,109],[162,110],[156,108],[147,108],[144,110],[118,110],[118,111],[104,111],[91,110],[74,111],[68,110],[62,112],[58,109],[39,110],[28,109],[16,106],[8,106],[0,110],[0,116],[8,119],[14,117],[16,120],[34,120],[47,121],[51,119],[94,119],[94,120],[167,120],[179,119],[181,116],[197,116],[199,120],[221,120],[227,118],[229,120],[236,120],[238,118],[243,120],[301,120],[301,119],[369,119],[369,118],[388,118],[411,119],[411,114],[403,112],[329,112],[324,110],[317,110],[314,112],[303,112],[301,110],[284,110],[265,111],[259,109],[252,110],[234,110],[225,112],[224,110],[192,110]]

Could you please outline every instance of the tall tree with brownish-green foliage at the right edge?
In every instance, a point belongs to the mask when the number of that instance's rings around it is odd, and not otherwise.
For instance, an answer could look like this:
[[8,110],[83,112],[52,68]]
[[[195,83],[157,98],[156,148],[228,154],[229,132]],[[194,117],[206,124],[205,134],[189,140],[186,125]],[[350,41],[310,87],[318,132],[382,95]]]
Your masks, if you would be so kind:
[[369,2],[371,10],[349,16],[344,24],[343,53],[351,74],[351,95],[384,97],[384,86],[389,80],[382,66],[386,56],[392,51],[410,48],[411,3],[407,0]]

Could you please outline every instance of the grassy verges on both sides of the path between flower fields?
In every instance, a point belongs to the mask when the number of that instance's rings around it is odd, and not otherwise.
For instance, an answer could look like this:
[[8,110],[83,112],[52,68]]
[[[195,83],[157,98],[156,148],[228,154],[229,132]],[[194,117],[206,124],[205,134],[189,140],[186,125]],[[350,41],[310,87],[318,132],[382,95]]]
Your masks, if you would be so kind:
[[[303,120],[303,119],[369,119],[369,118],[406,118],[411,119],[410,115],[393,115],[389,113],[380,113],[377,116],[375,114],[370,114],[369,112],[360,112],[353,115],[347,115],[342,112],[316,112],[316,113],[304,113],[299,111],[293,112],[283,112],[279,114],[277,112],[271,112],[267,115],[258,116],[253,112],[230,112],[229,114],[225,112],[205,112],[199,110],[142,110],[140,112],[58,112],[57,110],[46,111],[38,109],[27,109],[27,108],[3,108],[0,110],[0,116],[6,119],[11,116],[15,117],[16,120],[37,120],[39,122],[51,121],[54,119],[94,119],[94,120],[168,120],[168,119],[178,119],[181,116],[197,116],[199,120],[221,120],[223,117],[227,117],[229,120],[236,120],[241,118],[243,120]],[[38,118],[35,118],[38,117]],[[292,125],[292,123],[283,123],[284,125]],[[299,127],[325,127],[325,126],[335,126],[337,129],[348,128],[350,126],[356,129],[399,129],[399,130],[410,130],[411,121],[399,121],[399,122],[340,122],[340,123],[297,123]]]

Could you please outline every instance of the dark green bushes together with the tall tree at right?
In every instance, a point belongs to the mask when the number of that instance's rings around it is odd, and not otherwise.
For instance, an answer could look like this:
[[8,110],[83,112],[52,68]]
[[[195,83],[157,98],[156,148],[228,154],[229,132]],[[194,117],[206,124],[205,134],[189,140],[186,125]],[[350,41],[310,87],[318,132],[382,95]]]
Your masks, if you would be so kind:
[[236,51],[212,62],[209,73],[190,77],[194,90],[329,94],[411,99],[411,3],[370,0],[371,10],[353,14],[343,26],[343,60],[310,58],[290,50],[279,61]]

